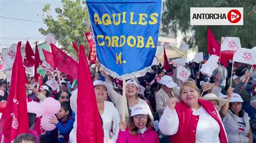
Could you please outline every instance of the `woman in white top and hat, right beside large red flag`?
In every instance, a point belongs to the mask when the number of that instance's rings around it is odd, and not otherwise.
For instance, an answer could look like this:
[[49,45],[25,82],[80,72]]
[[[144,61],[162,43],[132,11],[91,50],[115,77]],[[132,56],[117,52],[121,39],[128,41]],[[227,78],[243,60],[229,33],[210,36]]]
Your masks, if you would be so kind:
[[107,86],[107,83],[104,83],[103,81],[94,81],[93,86],[98,110],[103,120],[104,137],[116,141],[119,133],[118,125],[120,117],[117,109],[114,107],[114,104],[104,101],[107,96],[107,88],[109,86]]

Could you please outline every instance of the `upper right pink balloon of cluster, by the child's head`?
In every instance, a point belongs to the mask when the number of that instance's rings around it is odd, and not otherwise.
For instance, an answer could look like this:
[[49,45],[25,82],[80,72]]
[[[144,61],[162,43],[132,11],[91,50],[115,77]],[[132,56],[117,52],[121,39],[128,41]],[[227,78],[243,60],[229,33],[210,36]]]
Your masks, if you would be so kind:
[[45,114],[53,115],[60,110],[59,101],[55,100],[52,97],[48,97],[44,99],[43,106],[44,106],[44,115]]

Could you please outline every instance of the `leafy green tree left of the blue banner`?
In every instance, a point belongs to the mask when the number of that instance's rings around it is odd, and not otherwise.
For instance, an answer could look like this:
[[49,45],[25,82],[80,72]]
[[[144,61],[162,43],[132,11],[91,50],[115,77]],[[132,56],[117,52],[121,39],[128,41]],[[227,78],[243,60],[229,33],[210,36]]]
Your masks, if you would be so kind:
[[[39,28],[39,31],[43,35],[52,33],[64,51],[75,54],[76,52],[71,44],[72,41],[75,41],[77,45],[87,45],[84,32],[89,31],[87,28],[89,14],[83,0],[82,2],[80,0],[76,2],[62,0],[62,3],[63,9],[55,8],[58,15],[57,19],[55,20],[51,15],[46,15],[43,20],[48,29]],[[49,13],[50,10],[50,4],[46,4],[43,8],[44,13]],[[86,48],[86,53],[88,53],[88,50]]]

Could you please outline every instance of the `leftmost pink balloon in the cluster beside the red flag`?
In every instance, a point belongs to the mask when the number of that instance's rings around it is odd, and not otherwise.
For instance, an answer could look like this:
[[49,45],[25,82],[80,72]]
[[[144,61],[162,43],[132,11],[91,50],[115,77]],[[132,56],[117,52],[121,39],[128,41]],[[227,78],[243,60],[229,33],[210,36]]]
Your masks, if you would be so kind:
[[28,112],[35,113],[36,117],[41,117],[44,113],[44,106],[41,103],[29,102],[28,103]]

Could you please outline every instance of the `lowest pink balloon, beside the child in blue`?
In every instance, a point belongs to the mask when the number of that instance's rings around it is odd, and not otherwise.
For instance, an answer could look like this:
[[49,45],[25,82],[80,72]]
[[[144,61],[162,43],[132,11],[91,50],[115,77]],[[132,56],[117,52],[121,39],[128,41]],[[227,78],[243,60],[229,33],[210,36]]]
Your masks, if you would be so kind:
[[49,123],[49,119],[51,119],[52,117],[57,118],[55,115],[49,115],[49,114],[42,116],[41,126],[45,131],[52,131],[56,128],[55,124]]

